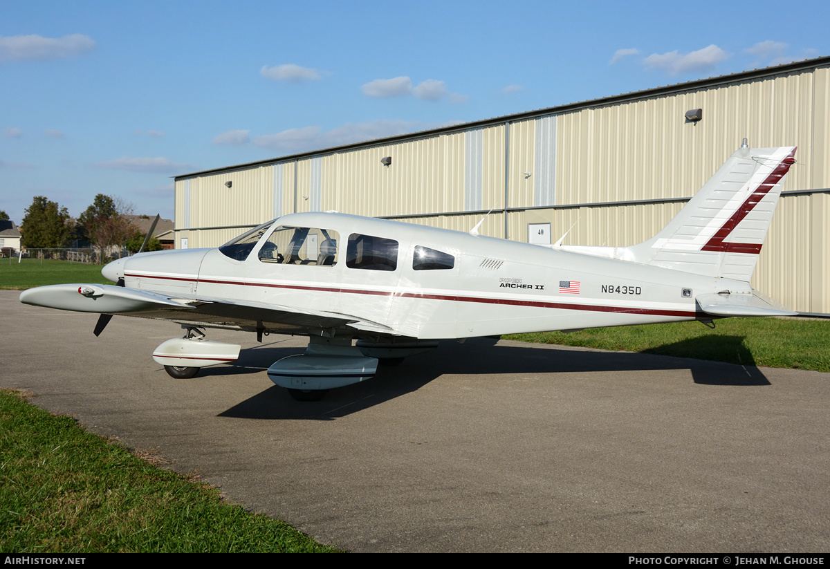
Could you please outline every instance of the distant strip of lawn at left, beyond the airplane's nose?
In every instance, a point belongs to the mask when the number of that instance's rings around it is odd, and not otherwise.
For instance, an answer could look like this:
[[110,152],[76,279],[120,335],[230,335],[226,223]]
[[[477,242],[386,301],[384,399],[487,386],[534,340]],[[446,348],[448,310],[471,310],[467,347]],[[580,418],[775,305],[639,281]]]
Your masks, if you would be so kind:
[[0,259],[0,289],[31,289],[34,286],[62,283],[112,285],[101,275],[101,265],[83,265],[66,260]]

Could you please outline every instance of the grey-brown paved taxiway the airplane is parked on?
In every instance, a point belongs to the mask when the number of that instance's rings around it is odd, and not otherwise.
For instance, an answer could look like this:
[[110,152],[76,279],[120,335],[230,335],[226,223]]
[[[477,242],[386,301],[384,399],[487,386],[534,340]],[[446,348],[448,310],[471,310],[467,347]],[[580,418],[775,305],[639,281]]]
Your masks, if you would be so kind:
[[304,338],[210,331],[233,365],[173,380],[178,326],[0,291],[0,387],[198,472],[355,552],[828,552],[830,374],[477,339],[298,403]]

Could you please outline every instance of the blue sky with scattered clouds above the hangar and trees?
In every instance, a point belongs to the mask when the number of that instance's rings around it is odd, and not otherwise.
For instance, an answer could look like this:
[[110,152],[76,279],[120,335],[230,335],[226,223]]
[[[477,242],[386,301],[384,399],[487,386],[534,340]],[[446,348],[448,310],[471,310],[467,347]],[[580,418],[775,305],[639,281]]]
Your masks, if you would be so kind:
[[[0,0],[0,210],[830,55],[828,2]],[[267,212],[264,214],[267,216]],[[263,217],[265,219],[265,217]]]

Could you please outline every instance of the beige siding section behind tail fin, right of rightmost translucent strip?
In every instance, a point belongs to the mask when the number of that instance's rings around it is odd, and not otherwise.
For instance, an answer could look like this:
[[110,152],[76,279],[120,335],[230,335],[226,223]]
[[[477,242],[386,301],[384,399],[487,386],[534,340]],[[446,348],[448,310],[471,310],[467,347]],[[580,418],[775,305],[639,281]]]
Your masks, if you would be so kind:
[[[689,109],[703,109],[703,119],[687,123]],[[557,204],[691,197],[744,138],[753,148],[798,146],[797,158],[806,162],[813,74],[559,115]],[[810,178],[810,168],[793,168],[785,189],[816,187]]]

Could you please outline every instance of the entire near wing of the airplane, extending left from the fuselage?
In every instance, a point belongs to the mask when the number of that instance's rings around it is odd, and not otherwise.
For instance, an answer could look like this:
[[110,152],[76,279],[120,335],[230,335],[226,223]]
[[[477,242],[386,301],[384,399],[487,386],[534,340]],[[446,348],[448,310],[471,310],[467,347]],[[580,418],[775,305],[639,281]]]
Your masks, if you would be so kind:
[[307,332],[354,325],[361,330],[393,332],[388,326],[348,314],[298,310],[279,304],[168,296],[115,285],[41,286],[24,290],[20,301],[53,309],[171,320],[197,328]]

